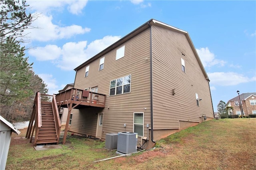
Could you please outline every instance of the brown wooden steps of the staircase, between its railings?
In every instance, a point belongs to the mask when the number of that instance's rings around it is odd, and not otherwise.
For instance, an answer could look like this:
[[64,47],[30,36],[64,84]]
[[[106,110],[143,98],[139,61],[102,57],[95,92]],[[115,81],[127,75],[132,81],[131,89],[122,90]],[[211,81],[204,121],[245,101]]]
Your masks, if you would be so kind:
[[39,129],[36,144],[58,143],[52,103],[41,102],[42,127]]

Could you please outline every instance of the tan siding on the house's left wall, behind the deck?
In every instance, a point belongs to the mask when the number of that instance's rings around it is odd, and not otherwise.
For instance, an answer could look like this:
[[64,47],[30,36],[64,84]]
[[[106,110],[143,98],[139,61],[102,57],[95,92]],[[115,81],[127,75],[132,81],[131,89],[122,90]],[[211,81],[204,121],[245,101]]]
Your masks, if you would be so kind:
[[[116,60],[116,49],[123,45],[125,45],[124,57]],[[98,86],[98,93],[107,95],[106,107],[100,112],[104,113],[103,139],[106,133],[132,132],[134,112],[144,112],[144,134],[147,136],[146,124],[150,124],[150,30],[145,30],[116,49],[89,63],[88,77],[84,77],[85,68],[88,65],[79,69],[76,73],[74,88],[86,89]],[[104,69],[99,71],[102,57],[105,57]],[[110,81],[127,75],[131,75],[131,92],[109,96]],[[70,130],[80,133],[90,131],[95,135],[97,115],[94,111],[91,115],[87,114],[85,110],[73,113]],[[86,126],[84,121],[88,119],[87,117],[92,121],[93,126],[81,129],[81,125]]]

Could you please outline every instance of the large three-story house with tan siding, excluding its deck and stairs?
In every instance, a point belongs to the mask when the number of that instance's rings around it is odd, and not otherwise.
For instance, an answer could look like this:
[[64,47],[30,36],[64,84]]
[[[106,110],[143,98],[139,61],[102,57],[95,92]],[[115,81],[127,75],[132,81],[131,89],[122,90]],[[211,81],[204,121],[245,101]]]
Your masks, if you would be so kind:
[[74,70],[75,89],[106,99],[104,108],[72,109],[71,132],[102,140],[108,133],[136,132],[150,148],[214,119],[210,80],[188,32],[163,22],[149,20]]

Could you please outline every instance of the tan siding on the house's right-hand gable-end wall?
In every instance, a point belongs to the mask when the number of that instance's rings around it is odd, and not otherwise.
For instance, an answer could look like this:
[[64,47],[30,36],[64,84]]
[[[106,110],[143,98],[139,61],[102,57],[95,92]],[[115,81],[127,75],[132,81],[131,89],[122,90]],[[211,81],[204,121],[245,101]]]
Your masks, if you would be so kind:
[[[208,81],[186,36],[152,26],[152,54],[154,129],[179,128],[178,121],[199,122],[202,114],[213,118]],[[202,99],[199,107],[195,93]]]

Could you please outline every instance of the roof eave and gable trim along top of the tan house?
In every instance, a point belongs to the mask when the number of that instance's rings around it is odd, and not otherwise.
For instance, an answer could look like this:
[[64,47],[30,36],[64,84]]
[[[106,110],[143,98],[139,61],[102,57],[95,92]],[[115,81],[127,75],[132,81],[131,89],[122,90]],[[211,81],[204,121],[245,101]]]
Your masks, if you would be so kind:
[[118,47],[119,45],[121,45],[122,43],[130,40],[131,38],[133,38],[134,36],[136,36],[137,34],[140,34],[141,32],[143,32],[144,30],[148,29],[151,27],[151,25],[156,25],[156,26],[160,26],[172,31],[176,31],[179,32],[181,34],[184,34],[186,36],[186,38],[188,39],[188,42],[192,48],[192,51],[194,52],[194,55],[196,56],[196,59],[200,65],[200,68],[202,69],[202,72],[204,74],[204,77],[207,79],[207,81],[210,81],[210,79],[208,78],[208,75],[206,74],[206,71],[204,69],[204,66],[202,65],[202,62],[198,56],[198,53],[196,51],[196,48],[194,47],[194,44],[192,43],[190,36],[188,34],[188,32],[180,30],[178,28],[175,28],[173,26],[170,26],[168,24],[164,24],[163,22],[151,19],[148,22],[146,22],[145,24],[143,24],[142,26],[140,26],[139,28],[137,28],[136,30],[130,32],[129,34],[127,34],[126,36],[124,36],[123,38],[121,38],[120,40],[118,40],[117,42],[113,43],[112,45],[110,45],[109,47],[107,47],[106,49],[104,49],[103,51],[101,51],[100,53],[94,55],[94,57],[88,59],[87,61],[85,61],[84,63],[82,63],[81,65],[79,65],[78,67],[76,67],[74,70],[78,71],[79,69],[83,68],[84,66],[88,65],[89,63],[91,63],[92,61],[102,57],[103,55],[105,55],[106,53],[108,53],[109,51],[115,49],[116,47]]

